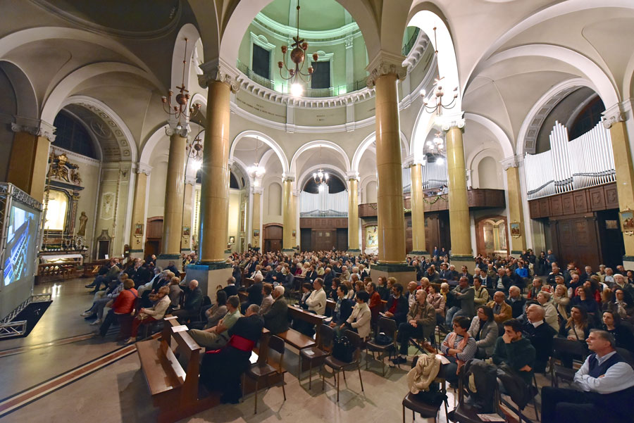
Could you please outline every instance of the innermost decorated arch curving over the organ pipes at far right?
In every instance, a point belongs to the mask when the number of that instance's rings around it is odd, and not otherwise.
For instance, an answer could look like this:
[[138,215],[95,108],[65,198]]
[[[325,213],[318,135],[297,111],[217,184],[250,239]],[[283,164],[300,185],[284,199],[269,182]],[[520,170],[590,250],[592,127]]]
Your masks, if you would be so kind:
[[[559,103],[564,96],[578,87],[588,87],[597,92],[597,89],[590,80],[581,77],[571,78],[570,80],[562,81],[559,84],[554,85],[551,89],[546,91],[545,94],[537,100],[537,102],[535,102],[522,122],[518,132],[515,146],[515,151],[518,156],[523,156],[525,153],[535,149],[537,134],[539,133],[542,122],[545,118],[547,118],[548,113],[550,113],[554,106],[557,106],[557,103]],[[599,96],[601,96],[601,94],[599,94]],[[557,101],[552,102],[552,99],[557,99]],[[549,102],[551,102],[551,104],[547,106],[547,103]],[[531,134],[530,137],[528,137],[529,133]]]

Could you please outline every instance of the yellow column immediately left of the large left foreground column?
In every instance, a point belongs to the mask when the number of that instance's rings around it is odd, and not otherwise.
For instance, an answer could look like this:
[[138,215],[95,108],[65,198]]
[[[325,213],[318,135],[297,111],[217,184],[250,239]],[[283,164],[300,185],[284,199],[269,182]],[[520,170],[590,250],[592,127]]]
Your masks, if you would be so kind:
[[180,237],[182,233],[182,201],[185,195],[185,162],[187,161],[187,129],[170,125],[166,130],[170,137],[167,180],[165,184],[165,208],[163,211],[163,244],[156,265],[166,267],[170,260],[178,269],[180,261]]

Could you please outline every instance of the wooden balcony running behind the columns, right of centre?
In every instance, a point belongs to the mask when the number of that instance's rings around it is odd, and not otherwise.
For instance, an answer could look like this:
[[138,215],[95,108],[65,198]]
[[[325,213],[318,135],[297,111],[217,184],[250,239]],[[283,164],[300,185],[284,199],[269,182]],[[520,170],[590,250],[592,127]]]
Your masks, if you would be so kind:
[[[467,191],[469,210],[504,208],[504,189],[469,189]],[[425,213],[449,210],[447,194],[425,196]],[[404,210],[411,210],[411,198],[403,198]],[[376,203],[359,204],[359,217],[375,217]]]

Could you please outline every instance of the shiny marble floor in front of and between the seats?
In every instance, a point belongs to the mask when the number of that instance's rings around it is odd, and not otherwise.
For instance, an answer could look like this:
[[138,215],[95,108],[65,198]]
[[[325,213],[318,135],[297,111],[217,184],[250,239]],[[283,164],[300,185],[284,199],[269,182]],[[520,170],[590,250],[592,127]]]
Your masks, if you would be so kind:
[[[53,297],[53,303],[42,320],[27,338],[0,341],[0,398],[4,398],[0,399],[0,415],[3,415],[0,422],[128,423],[156,420],[156,410],[151,405],[134,347],[122,349],[122,345],[114,341],[115,335],[106,339],[81,336],[91,334],[95,329],[80,317],[80,312],[86,310],[92,301],[85,284],[87,279],[72,279],[36,286],[36,293],[49,292]],[[75,336],[78,336],[77,341],[68,339]],[[66,341],[55,342],[61,339]],[[16,398],[16,394],[31,388],[35,388],[32,392],[37,393],[43,382],[66,377],[71,370],[82,368],[85,363],[99,362],[103,360],[102,356],[113,351],[123,358],[99,370],[87,372],[48,393],[40,392],[35,400],[25,401],[9,412],[5,408],[3,412],[1,407],[8,402],[7,398]],[[342,381],[340,401],[337,403],[332,379],[330,384],[326,380],[325,391],[321,391],[321,380],[315,379],[312,389],[309,389],[307,373],[301,382],[297,379],[297,362],[297,351],[287,348],[286,401],[282,398],[282,389],[273,387],[259,394],[257,415],[253,414],[254,397],[247,396],[240,404],[219,405],[183,422],[402,421],[401,401],[407,393],[406,366],[402,369],[390,368],[386,376],[381,377],[380,362],[371,361],[369,370],[361,370],[365,392],[361,392],[358,374],[349,372],[347,384]],[[547,383],[545,380],[539,382]],[[450,409],[453,403],[454,398],[449,391]],[[532,407],[527,408],[527,414],[532,417]],[[411,421],[411,413],[406,414],[406,421]],[[433,420],[416,418],[416,422],[426,421]],[[446,422],[444,411],[440,412],[438,421]]]

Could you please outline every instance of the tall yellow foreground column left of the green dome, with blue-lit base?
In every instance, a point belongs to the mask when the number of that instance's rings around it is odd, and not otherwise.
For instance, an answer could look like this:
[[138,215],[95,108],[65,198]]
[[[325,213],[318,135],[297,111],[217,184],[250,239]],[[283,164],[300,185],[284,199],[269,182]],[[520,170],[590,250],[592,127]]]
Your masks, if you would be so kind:
[[199,262],[187,266],[187,279],[215,298],[216,287],[231,276],[226,263],[229,213],[229,122],[231,92],[239,87],[238,71],[221,59],[200,65],[199,84],[208,88],[207,125],[201,166]]

